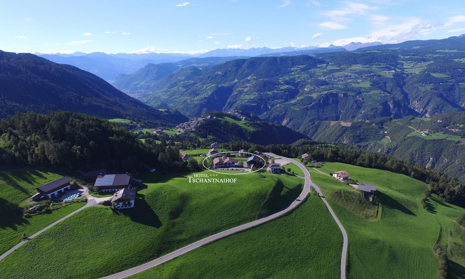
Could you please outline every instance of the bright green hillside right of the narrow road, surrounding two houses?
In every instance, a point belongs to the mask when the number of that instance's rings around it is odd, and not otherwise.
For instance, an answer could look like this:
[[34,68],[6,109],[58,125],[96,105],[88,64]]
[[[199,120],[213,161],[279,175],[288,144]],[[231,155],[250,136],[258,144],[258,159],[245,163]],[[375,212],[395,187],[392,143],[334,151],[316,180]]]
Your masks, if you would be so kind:
[[[432,210],[427,212],[420,205],[426,184],[405,175],[342,163],[326,163],[320,170],[325,173],[345,170],[352,179],[378,186],[379,215],[376,219],[367,219],[360,215],[359,206],[346,206],[333,198],[334,191],[352,192],[351,186],[310,169],[312,181],[322,189],[347,231],[348,278],[436,277],[438,260],[432,247],[438,239],[439,228],[456,228],[453,220],[465,212],[463,208],[433,195],[428,201]],[[463,254],[456,260],[463,260]]]

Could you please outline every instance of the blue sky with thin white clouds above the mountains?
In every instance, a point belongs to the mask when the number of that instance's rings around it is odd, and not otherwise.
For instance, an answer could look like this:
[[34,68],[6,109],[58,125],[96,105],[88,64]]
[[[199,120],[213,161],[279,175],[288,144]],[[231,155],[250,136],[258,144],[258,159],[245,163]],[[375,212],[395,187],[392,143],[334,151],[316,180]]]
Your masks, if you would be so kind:
[[[68,2],[68,3],[65,3]],[[202,53],[465,33],[463,0],[2,1],[0,49]]]

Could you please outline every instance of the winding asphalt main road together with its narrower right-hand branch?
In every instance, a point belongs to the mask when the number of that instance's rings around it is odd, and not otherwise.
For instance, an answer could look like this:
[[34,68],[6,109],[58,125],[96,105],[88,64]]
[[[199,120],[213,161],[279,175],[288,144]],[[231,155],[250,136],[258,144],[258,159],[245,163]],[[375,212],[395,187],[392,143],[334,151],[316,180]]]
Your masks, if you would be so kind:
[[334,220],[336,220],[336,223],[338,223],[338,226],[339,226],[339,228],[341,229],[341,231],[343,233],[344,245],[343,245],[342,260],[341,260],[341,279],[345,279],[345,259],[346,259],[346,256],[347,256],[347,234],[345,233],[344,227],[339,222],[339,219],[336,217],[336,215],[332,211],[331,206],[329,206],[329,204],[326,202],[326,199],[323,197],[323,194],[321,193],[319,187],[316,186],[310,180],[310,172],[307,170],[307,168],[305,166],[303,166],[302,164],[300,164],[299,162],[297,162],[297,161],[295,161],[293,159],[278,156],[278,155],[273,154],[273,153],[266,153],[266,155],[273,156],[275,158],[286,159],[286,160],[296,164],[297,166],[299,166],[299,168],[305,173],[304,189],[302,190],[302,193],[300,193],[299,197],[297,199],[295,199],[289,206],[287,206],[286,208],[284,208],[281,211],[279,211],[277,213],[274,213],[272,215],[266,216],[264,218],[252,221],[252,222],[244,224],[244,225],[240,225],[240,226],[231,228],[231,229],[223,231],[221,233],[213,234],[213,235],[211,235],[209,237],[206,237],[204,239],[200,239],[197,242],[194,242],[192,244],[189,244],[187,246],[179,248],[178,250],[176,250],[174,252],[166,254],[166,255],[164,255],[162,257],[159,257],[157,259],[154,259],[152,261],[149,261],[149,262],[147,262],[145,264],[142,264],[140,266],[136,266],[136,267],[127,269],[127,270],[122,271],[122,272],[115,273],[113,275],[103,277],[101,279],[121,279],[121,278],[125,278],[127,276],[131,276],[133,274],[136,274],[136,273],[142,272],[144,270],[147,270],[147,269],[149,269],[151,267],[158,266],[159,264],[162,264],[162,263],[164,263],[164,262],[166,262],[166,261],[168,261],[170,259],[174,259],[174,258],[176,258],[176,257],[178,257],[178,256],[180,256],[180,255],[182,255],[182,254],[184,254],[186,252],[189,252],[189,251],[191,251],[191,250],[193,250],[195,248],[203,246],[203,245],[205,245],[207,243],[210,243],[210,242],[212,242],[214,240],[224,238],[224,237],[226,237],[228,235],[231,235],[233,233],[238,233],[240,231],[246,230],[248,228],[252,228],[254,226],[258,226],[258,225],[263,224],[265,222],[268,222],[268,221],[270,221],[272,219],[278,218],[279,216],[292,211],[296,206],[298,206],[306,198],[308,193],[310,193],[310,186],[312,186],[315,189],[315,191],[317,193],[319,193],[319,196],[325,202],[326,206],[328,207],[329,211],[331,212],[332,217],[334,218]]

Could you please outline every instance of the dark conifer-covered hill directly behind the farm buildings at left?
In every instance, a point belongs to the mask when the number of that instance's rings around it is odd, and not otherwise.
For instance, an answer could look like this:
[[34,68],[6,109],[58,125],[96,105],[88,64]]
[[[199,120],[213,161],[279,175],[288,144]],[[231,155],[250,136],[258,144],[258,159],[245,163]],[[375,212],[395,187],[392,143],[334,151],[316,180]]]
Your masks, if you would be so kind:
[[0,166],[133,173],[148,167],[185,168],[177,148],[143,144],[116,123],[63,111],[0,119]]

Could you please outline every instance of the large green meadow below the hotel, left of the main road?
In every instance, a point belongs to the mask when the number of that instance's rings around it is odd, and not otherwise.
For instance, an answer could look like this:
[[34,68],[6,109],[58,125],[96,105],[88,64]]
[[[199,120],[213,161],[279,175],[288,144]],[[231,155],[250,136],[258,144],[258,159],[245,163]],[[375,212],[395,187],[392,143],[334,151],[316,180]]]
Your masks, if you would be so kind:
[[143,176],[147,187],[134,209],[88,208],[29,241],[2,260],[0,269],[12,278],[98,278],[257,219],[260,212],[277,211],[299,195],[303,183],[270,173],[242,175],[232,184],[188,183],[192,175]]

